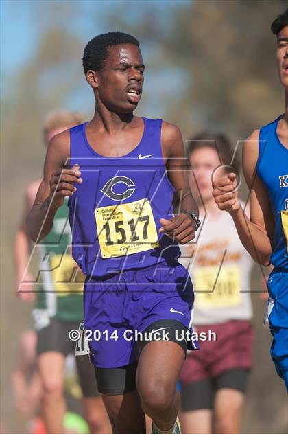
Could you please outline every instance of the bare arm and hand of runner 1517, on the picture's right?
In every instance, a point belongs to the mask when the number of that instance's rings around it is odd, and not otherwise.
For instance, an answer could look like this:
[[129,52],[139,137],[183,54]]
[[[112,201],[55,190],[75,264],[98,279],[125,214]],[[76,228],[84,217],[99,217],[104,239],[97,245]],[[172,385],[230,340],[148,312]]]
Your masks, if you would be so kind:
[[161,130],[161,145],[163,157],[166,161],[168,176],[175,188],[173,207],[176,217],[171,220],[161,219],[163,227],[169,236],[175,234],[180,244],[185,244],[195,237],[195,221],[181,210],[194,212],[197,216],[199,210],[193,198],[187,176],[187,159],[184,158],[184,146],[182,135],[177,126],[163,122]]

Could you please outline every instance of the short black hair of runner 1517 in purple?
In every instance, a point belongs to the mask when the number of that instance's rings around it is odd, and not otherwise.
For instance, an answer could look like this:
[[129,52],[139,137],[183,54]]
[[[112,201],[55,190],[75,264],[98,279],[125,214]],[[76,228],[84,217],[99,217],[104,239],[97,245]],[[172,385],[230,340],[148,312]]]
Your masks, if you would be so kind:
[[84,73],[92,71],[101,71],[108,53],[108,47],[119,44],[132,44],[139,47],[139,41],[134,36],[122,32],[108,32],[99,34],[91,39],[84,48],[83,68]]

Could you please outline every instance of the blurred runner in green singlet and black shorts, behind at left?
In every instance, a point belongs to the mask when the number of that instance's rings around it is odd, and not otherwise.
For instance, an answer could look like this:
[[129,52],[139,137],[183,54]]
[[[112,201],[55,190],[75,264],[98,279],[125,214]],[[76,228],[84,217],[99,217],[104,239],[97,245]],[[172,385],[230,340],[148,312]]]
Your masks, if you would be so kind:
[[[43,128],[45,145],[49,144],[54,135],[70,126],[80,124],[82,120],[79,113],[51,112],[47,115]],[[34,203],[39,185],[40,180],[37,180],[27,187],[25,216]],[[25,273],[30,254],[24,221],[16,233],[14,246],[17,293],[25,301],[33,301],[36,297],[32,313],[38,341],[38,371],[43,383],[43,417],[47,432],[51,434],[64,432],[65,358],[69,353],[75,352],[75,343],[69,339],[69,331],[78,328],[83,319],[84,279],[71,285],[66,283],[70,282],[73,269],[77,268],[71,253],[67,250],[70,244],[71,231],[65,201],[56,213],[49,236],[38,244],[39,270],[42,277],[40,286],[36,287],[32,283],[21,284],[23,276],[25,282],[34,281],[29,273]],[[110,424],[101,397],[97,393],[93,369],[86,358],[77,358],[77,371],[83,392],[84,415],[91,433],[107,434]]]

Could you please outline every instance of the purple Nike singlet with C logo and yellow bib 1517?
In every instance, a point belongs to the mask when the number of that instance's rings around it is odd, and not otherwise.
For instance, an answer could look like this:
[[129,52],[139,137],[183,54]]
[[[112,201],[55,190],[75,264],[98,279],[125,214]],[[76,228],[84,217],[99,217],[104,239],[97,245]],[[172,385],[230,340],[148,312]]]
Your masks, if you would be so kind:
[[139,144],[123,157],[104,157],[88,144],[86,124],[70,129],[70,165],[83,182],[69,198],[73,258],[83,273],[101,277],[143,269],[180,256],[159,233],[173,216],[174,188],[161,150],[161,119],[143,118]]

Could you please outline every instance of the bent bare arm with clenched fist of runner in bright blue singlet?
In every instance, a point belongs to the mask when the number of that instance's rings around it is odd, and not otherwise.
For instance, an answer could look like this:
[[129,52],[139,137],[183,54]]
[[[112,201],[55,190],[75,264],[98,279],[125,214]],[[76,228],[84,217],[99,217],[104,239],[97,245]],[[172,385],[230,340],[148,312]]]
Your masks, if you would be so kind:
[[250,188],[250,219],[239,204],[235,176],[229,175],[230,183],[215,181],[213,196],[219,209],[228,211],[234,222],[239,238],[252,258],[262,265],[269,265],[272,253],[274,218],[265,187],[256,174],[258,159],[259,130],[254,131],[243,146],[243,173]]

